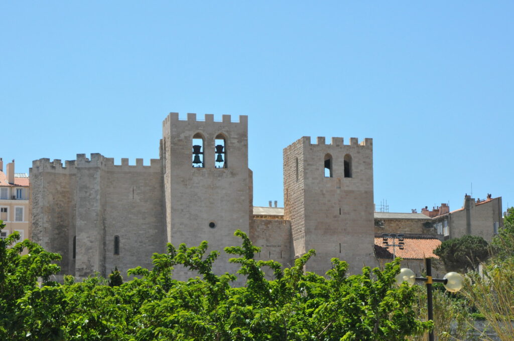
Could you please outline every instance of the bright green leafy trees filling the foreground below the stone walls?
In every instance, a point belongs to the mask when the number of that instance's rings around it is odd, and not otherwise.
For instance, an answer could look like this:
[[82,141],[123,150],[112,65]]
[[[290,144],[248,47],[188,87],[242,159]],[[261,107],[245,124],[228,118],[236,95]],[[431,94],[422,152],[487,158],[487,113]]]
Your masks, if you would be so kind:
[[[98,276],[82,282],[66,276],[59,284],[49,278],[59,271],[53,261],[60,256],[28,240],[8,248],[13,234],[0,247],[0,339],[395,341],[433,326],[412,309],[415,288],[395,286],[399,259],[384,271],[348,276],[347,263],[334,258],[325,278],[303,270],[314,250],[282,269],[255,260],[259,248],[243,232],[235,235],[242,245],[225,251],[240,264],[244,287],[231,285],[235,274],[213,273],[219,253],[207,253],[207,242],[168,244],[166,254],[154,254],[152,270],[132,269],[137,278],[119,285],[116,271],[109,285]],[[21,256],[23,248],[29,255]],[[177,266],[198,276],[177,281]],[[273,280],[263,267],[273,269]]]

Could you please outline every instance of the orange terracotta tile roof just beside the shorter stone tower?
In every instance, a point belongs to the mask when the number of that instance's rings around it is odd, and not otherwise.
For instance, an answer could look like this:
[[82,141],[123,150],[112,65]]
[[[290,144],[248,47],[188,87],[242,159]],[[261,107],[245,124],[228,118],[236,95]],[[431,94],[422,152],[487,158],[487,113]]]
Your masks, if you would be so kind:
[[[392,240],[390,239],[389,242],[392,242]],[[395,240],[395,242],[397,242],[397,240]],[[397,257],[401,257],[403,259],[424,259],[427,257],[439,259],[439,257],[433,253],[433,251],[441,244],[439,239],[404,238],[403,242],[405,242],[405,248],[403,250],[395,248]],[[375,255],[377,258],[392,259],[393,247],[386,249],[382,245],[382,238],[375,237]]]

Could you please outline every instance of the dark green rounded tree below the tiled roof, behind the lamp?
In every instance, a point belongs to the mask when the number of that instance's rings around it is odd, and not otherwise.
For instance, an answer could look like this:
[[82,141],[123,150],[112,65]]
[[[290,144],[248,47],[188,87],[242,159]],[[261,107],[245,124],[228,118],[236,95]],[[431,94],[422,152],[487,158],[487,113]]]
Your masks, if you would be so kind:
[[479,236],[466,235],[442,242],[434,254],[439,256],[450,271],[466,272],[475,269],[489,257],[487,241]]

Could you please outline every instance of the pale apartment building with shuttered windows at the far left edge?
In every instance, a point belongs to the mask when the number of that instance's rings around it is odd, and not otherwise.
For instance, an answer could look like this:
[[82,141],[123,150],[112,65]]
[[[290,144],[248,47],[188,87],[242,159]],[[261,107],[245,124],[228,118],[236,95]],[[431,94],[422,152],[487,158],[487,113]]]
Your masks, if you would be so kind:
[[5,223],[0,238],[17,231],[20,240],[30,239],[29,177],[26,173],[14,172],[14,160],[4,167],[4,160],[0,158],[0,220]]

